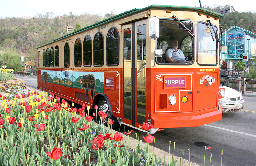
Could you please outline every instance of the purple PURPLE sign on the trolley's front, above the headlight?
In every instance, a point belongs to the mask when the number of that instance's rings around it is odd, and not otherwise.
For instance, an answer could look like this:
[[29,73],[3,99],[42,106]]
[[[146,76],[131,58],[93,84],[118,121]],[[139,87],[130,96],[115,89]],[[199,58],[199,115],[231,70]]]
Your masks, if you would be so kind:
[[185,77],[165,77],[164,88],[185,87]]

